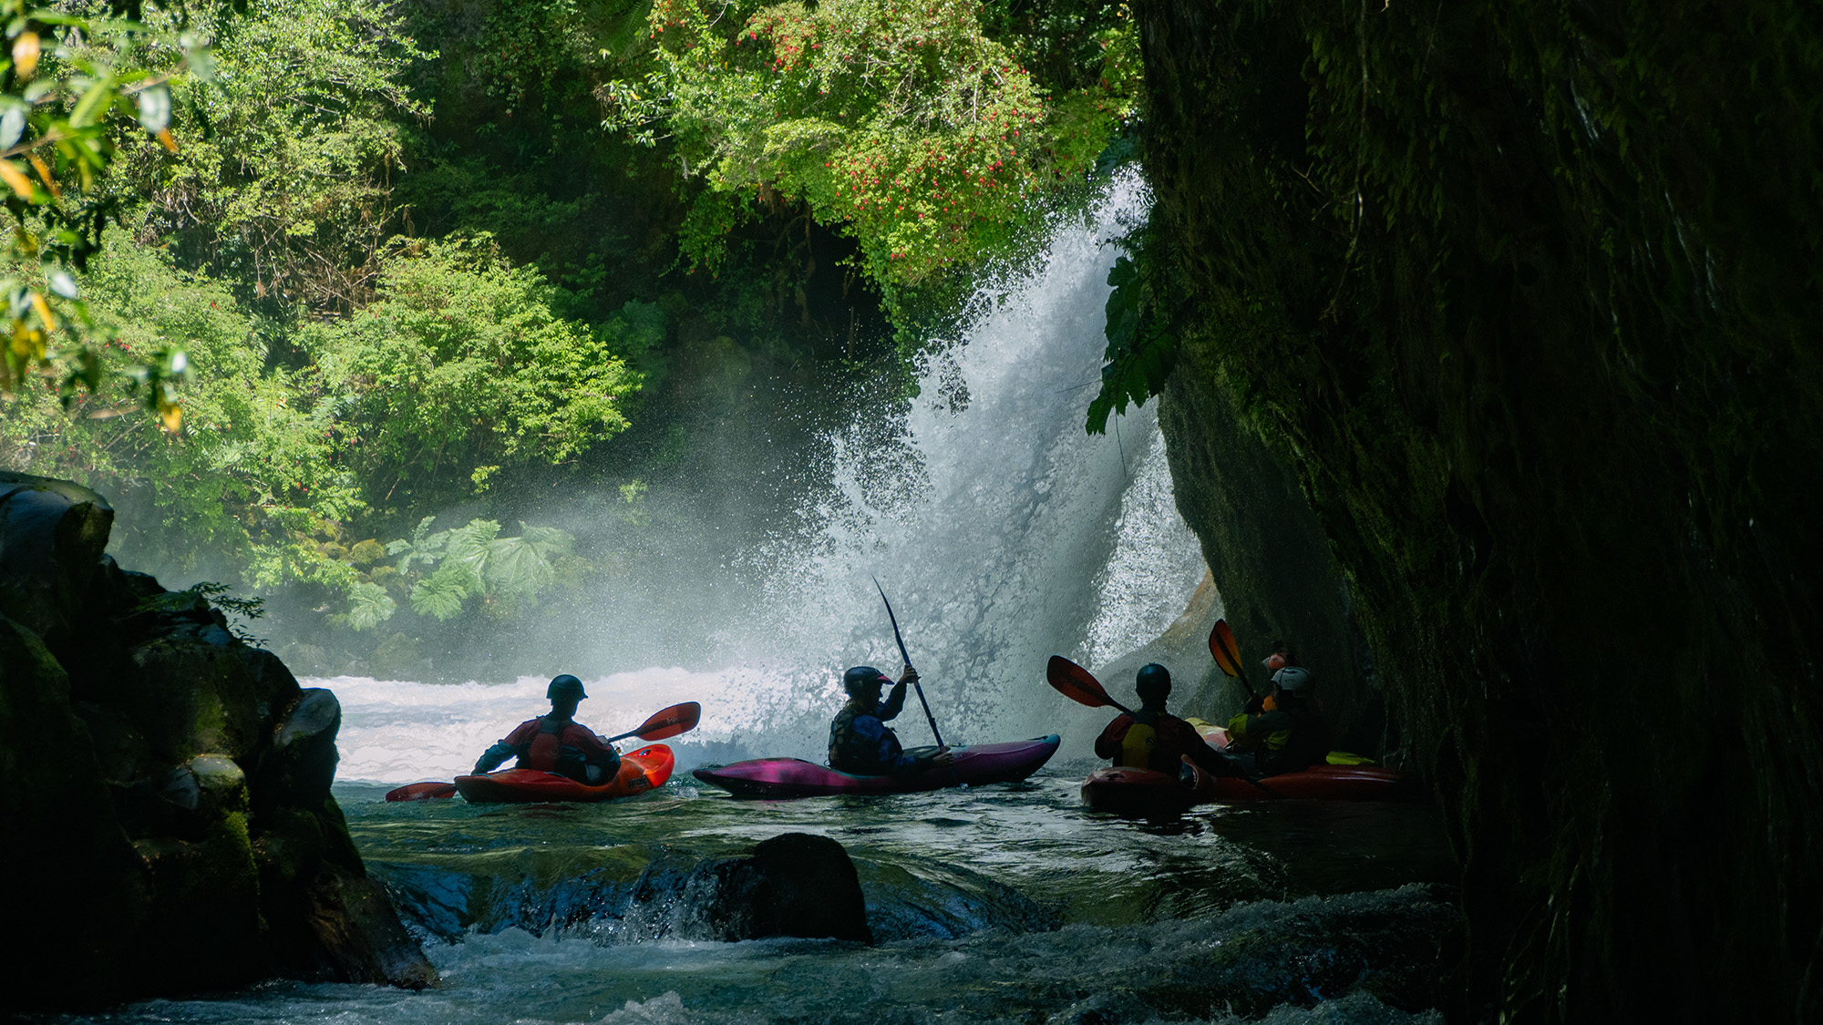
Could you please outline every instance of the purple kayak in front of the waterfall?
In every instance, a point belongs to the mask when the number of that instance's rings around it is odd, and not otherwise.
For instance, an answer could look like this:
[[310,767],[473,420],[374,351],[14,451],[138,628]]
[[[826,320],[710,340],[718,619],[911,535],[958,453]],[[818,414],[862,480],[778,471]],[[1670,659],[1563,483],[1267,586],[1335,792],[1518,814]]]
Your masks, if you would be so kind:
[[1014,782],[1039,770],[1057,753],[1057,735],[1008,744],[968,744],[950,748],[946,766],[906,775],[853,775],[806,762],[804,759],[757,759],[731,766],[695,770],[691,775],[713,782],[735,797],[826,797],[831,793],[910,793],[944,786]]

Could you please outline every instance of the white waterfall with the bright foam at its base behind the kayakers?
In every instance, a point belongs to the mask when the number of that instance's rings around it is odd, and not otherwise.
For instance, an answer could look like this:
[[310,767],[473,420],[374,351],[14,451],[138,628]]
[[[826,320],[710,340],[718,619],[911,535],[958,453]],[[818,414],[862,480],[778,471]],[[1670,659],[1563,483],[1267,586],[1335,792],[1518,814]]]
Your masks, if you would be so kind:
[[[702,642],[667,651],[664,666],[649,647],[633,666],[625,649],[603,649],[598,662],[623,669],[578,669],[591,693],[580,719],[618,733],[664,704],[700,700],[693,737],[724,742],[724,755],[820,757],[842,669],[901,664],[873,576],[944,740],[1065,731],[1092,715],[1046,688],[1045,660],[1099,664],[1152,640],[1203,575],[1172,503],[1154,407],[1116,418],[1107,434],[1083,430],[1107,345],[1112,241],[1147,204],[1138,175],[1123,175],[1090,217],[1054,228],[1035,270],[983,286],[970,330],[928,357],[917,398],[857,409],[828,438],[828,474],[809,485],[795,525],[753,538],[715,578],[678,573],[698,593],[742,595],[740,607],[727,613],[724,598],[685,631]],[[629,606],[651,609],[645,633],[669,635],[691,602]],[[636,638],[642,624],[602,633]],[[321,682],[343,700],[341,777],[465,771],[545,708],[547,678]],[[895,726],[906,744],[932,742],[915,699]]]

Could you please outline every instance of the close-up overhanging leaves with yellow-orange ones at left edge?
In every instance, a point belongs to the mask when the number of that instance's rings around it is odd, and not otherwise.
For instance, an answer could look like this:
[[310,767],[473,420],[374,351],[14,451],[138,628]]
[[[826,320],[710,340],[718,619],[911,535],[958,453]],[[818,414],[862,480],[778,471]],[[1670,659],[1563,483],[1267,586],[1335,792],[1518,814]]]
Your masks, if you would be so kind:
[[[0,394],[42,381],[67,401],[78,387],[100,388],[109,372],[111,334],[77,285],[117,206],[97,179],[115,162],[122,137],[149,133],[166,148],[177,146],[171,88],[182,88],[186,71],[206,77],[208,55],[193,35],[157,33],[124,18],[84,18],[24,0],[0,0],[0,16],[7,40],[0,55],[0,179],[13,223],[0,270],[9,321]],[[142,60],[151,51],[162,60]],[[184,365],[180,350],[164,350],[126,367],[140,401],[168,430],[182,418],[171,381]]]

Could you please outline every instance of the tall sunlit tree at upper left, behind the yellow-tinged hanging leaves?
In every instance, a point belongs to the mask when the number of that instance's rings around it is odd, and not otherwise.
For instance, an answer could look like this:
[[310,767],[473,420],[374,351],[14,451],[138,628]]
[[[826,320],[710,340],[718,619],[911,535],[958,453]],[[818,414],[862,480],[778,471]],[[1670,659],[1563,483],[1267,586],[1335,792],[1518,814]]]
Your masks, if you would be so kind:
[[160,15],[179,16],[217,36],[217,77],[173,89],[173,120],[193,140],[126,155],[117,190],[144,204],[140,239],[177,243],[275,310],[355,308],[396,230],[403,124],[430,113],[399,78],[428,55],[374,0]]

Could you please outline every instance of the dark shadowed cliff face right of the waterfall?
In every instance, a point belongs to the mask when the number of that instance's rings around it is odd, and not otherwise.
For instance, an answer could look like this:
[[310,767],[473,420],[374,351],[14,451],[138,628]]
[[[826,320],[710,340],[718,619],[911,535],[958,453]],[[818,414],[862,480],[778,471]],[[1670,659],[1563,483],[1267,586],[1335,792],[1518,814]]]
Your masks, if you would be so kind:
[[1238,429],[1314,511],[1458,1012],[1823,1020],[1823,7],[1136,9],[1183,511]]

